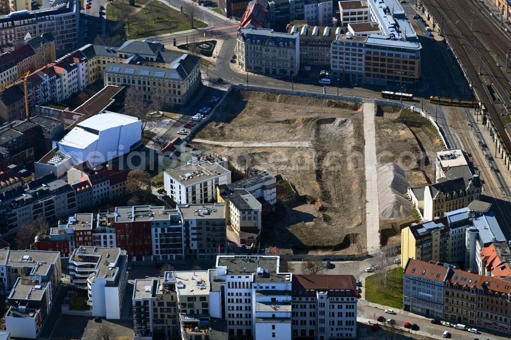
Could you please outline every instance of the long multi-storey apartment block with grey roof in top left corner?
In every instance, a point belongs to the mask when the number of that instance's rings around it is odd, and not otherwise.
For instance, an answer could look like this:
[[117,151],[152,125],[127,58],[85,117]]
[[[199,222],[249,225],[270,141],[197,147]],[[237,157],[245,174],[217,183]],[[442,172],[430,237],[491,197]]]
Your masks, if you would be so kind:
[[75,0],[54,2],[50,7],[23,10],[0,16],[0,44],[23,41],[27,35],[51,32],[59,53],[76,48],[80,3]]

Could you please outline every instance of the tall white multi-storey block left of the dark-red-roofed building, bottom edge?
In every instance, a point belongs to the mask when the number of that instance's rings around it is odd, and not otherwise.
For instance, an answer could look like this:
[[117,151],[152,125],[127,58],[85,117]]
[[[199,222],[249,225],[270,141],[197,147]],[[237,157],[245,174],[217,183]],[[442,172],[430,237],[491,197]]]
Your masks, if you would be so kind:
[[211,315],[225,314],[229,336],[291,339],[292,274],[278,256],[217,256],[212,275]]

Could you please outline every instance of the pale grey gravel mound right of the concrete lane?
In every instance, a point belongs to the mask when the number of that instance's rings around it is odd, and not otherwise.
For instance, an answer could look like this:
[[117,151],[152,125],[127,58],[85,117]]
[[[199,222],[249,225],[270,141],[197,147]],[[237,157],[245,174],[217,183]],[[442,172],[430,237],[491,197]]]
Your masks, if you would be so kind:
[[410,185],[405,171],[396,163],[379,163],[376,166],[378,174],[378,204],[381,218],[404,218],[411,215],[411,207],[405,198]]

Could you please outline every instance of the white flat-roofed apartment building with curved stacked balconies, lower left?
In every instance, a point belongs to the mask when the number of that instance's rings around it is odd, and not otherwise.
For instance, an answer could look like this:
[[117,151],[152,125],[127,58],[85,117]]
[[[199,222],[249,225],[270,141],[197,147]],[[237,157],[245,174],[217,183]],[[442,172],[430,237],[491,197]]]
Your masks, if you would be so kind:
[[71,285],[87,292],[93,317],[121,319],[127,262],[121,248],[80,246],[69,258]]

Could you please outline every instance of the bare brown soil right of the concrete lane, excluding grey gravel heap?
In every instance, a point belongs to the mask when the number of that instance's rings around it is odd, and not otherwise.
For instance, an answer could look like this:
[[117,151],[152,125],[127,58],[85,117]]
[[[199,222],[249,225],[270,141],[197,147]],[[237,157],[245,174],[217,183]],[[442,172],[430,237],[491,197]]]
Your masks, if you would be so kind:
[[[379,163],[397,163],[405,170],[410,186],[434,183],[436,152],[444,149],[429,120],[419,113],[393,106],[380,106],[376,116],[376,155]],[[382,242],[397,241],[409,218],[380,219]]]

